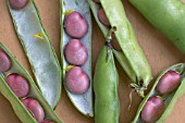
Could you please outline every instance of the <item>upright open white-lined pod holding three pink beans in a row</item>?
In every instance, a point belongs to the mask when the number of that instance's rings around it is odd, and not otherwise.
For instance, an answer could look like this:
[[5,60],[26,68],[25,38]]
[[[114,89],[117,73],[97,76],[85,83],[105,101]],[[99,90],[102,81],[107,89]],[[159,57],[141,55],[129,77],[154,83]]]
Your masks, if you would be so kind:
[[79,112],[94,116],[91,17],[86,0],[61,0],[61,58],[67,96]]

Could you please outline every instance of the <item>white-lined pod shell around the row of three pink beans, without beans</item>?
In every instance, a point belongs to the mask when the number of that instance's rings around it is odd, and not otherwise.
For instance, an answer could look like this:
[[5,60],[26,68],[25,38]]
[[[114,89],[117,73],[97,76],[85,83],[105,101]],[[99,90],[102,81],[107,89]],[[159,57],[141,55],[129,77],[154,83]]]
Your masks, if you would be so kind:
[[65,79],[65,74],[67,66],[71,65],[66,62],[64,57],[64,48],[66,44],[74,39],[70,37],[64,29],[63,22],[65,14],[71,10],[79,12],[84,19],[87,21],[88,32],[87,34],[81,38],[81,42],[87,48],[88,50],[88,59],[87,61],[81,66],[82,70],[87,74],[89,78],[90,86],[85,94],[76,95],[71,93],[67,87],[65,86],[65,90],[67,93],[69,98],[71,99],[72,103],[75,108],[87,116],[94,116],[94,108],[92,108],[92,86],[91,86],[91,16],[88,2],[86,0],[60,0],[61,1],[61,59],[62,59],[62,67],[63,67],[63,81]]

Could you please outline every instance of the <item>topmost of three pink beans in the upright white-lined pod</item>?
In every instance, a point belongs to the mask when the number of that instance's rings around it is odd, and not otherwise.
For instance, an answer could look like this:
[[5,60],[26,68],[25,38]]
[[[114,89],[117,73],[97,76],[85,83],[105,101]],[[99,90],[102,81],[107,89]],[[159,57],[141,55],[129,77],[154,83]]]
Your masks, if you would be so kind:
[[73,11],[65,16],[64,28],[67,35],[74,38],[82,38],[87,34],[87,21],[81,13]]

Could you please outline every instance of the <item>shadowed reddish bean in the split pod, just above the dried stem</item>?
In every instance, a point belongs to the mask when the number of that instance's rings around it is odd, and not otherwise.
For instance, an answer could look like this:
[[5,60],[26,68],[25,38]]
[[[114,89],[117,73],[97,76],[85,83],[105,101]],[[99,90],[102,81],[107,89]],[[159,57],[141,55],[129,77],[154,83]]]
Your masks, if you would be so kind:
[[110,26],[109,20],[108,20],[107,15],[104,13],[104,10],[102,8],[100,8],[98,10],[98,19],[103,25]]

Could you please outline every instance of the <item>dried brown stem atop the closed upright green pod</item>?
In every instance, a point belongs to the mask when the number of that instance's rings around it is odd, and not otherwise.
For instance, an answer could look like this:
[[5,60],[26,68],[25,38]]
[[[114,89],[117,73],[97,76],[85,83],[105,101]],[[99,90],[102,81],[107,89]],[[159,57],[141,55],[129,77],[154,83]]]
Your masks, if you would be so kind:
[[116,27],[113,26],[107,34],[106,36],[106,46],[107,46],[107,58],[106,61],[108,61],[110,52],[112,50],[112,45],[111,45],[111,40],[112,40],[112,34],[116,30]]

